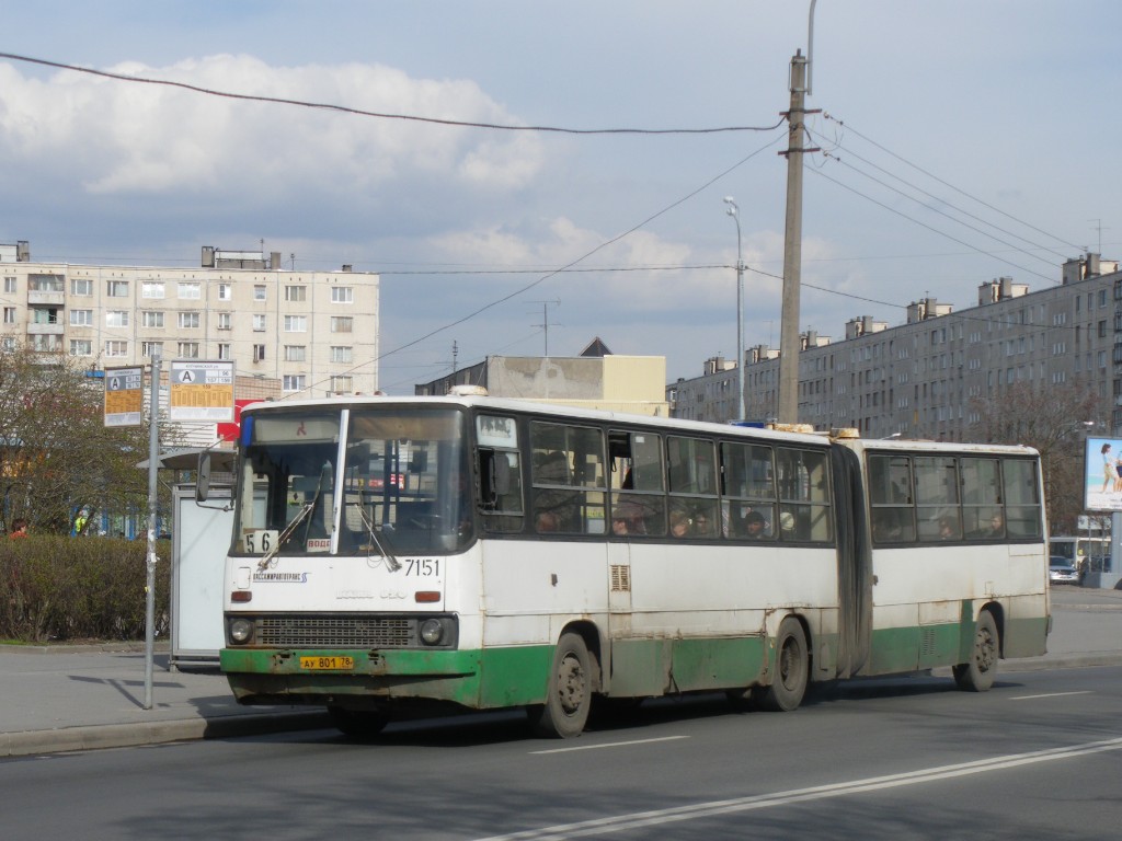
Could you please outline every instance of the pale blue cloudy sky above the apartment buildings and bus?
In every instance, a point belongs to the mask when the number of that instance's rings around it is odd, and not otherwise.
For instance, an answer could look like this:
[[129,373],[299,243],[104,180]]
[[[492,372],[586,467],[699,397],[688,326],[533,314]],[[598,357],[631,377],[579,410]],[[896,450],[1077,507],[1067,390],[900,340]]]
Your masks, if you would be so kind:
[[[597,336],[673,381],[736,355],[732,196],[744,343],[779,346],[810,0],[0,4],[0,243],[33,260],[379,272],[389,394]],[[1122,257],[1120,30],[1114,0],[817,2],[800,330]]]

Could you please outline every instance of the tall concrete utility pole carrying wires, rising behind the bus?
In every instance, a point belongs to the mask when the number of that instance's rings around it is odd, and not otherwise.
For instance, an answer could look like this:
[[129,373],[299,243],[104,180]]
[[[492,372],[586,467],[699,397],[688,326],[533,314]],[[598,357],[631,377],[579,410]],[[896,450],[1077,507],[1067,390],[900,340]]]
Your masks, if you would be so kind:
[[[810,4],[811,27],[808,44],[813,43],[815,4]],[[808,46],[809,49],[809,46]],[[784,424],[799,420],[799,288],[802,283],[802,155],[819,151],[803,147],[806,95],[809,56],[795,50],[791,58],[791,110],[787,112],[787,230],[783,247],[783,313],[779,333],[779,410],[776,419]]]

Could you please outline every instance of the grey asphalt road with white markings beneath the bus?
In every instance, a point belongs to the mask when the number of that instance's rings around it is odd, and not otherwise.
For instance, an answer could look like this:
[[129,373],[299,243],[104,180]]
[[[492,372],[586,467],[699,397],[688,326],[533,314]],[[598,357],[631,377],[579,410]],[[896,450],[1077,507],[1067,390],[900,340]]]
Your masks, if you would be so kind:
[[6,841],[43,838],[1103,839],[1122,669],[855,681],[793,713],[645,703],[569,741],[517,713],[0,763]]

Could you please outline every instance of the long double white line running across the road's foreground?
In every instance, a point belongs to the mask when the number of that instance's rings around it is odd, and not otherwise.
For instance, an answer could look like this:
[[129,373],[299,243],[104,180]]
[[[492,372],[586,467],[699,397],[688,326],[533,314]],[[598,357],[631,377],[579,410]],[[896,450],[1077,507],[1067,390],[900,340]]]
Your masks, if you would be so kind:
[[579,821],[577,823],[564,823],[555,826],[543,826],[537,830],[524,830],[506,835],[491,835],[478,841],[559,841],[560,839],[585,838],[589,835],[603,835],[609,832],[623,830],[644,829],[646,826],[660,826],[670,821],[691,821],[698,817],[711,817],[714,815],[732,814],[736,812],[751,812],[772,806],[782,806],[790,803],[803,803],[807,801],[826,800],[828,797],[842,797],[847,794],[858,794],[863,792],[875,792],[885,788],[896,788],[900,786],[919,785],[931,783],[938,779],[949,779],[951,777],[964,777],[972,774],[985,774],[987,771],[1015,768],[1022,765],[1033,765],[1036,763],[1049,763],[1054,759],[1069,759],[1087,754],[1101,754],[1107,750],[1122,750],[1122,737],[1116,739],[1104,739],[1102,741],[1085,742],[1083,745],[1072,745],[1066,748],[1048,748],[1047,750],[1033,750],[1028,754],[1011,754],[992,759],[980,759],[973,763],[960,765],[944,765],[935,768],[925,768],[904,774],[891,774],[884,777],[870,777],[867,779],[855,779],[849,783],[834,783],[831,785],[813,786],[811,788],[795,788],[790,792],[775,792],[774,794],[757,794],[749,797],[734,797],[724,801],[710,801],[708,803],[697,803],[691,806],[675,806],[672,808],[651,810],[650,812],[636,812],[629,815],[616,815],[613,817],[598,817],[591,821]]

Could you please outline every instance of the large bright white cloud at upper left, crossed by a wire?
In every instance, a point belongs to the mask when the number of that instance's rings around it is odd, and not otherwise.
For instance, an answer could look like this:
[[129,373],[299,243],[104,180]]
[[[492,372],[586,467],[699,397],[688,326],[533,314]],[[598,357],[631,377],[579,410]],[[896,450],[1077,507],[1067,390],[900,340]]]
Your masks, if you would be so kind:
[[[473,82],[411,78],[381,65],[276,67],[246,55],[214,55],[108,70],[380,113],[517,122]],[[2,159],[54,170],[96,195],[353,192],[417,177],[517,190],[544,158],[532,135],[247,102],[72,71],[34,78],[0,65],[0,85]]]

